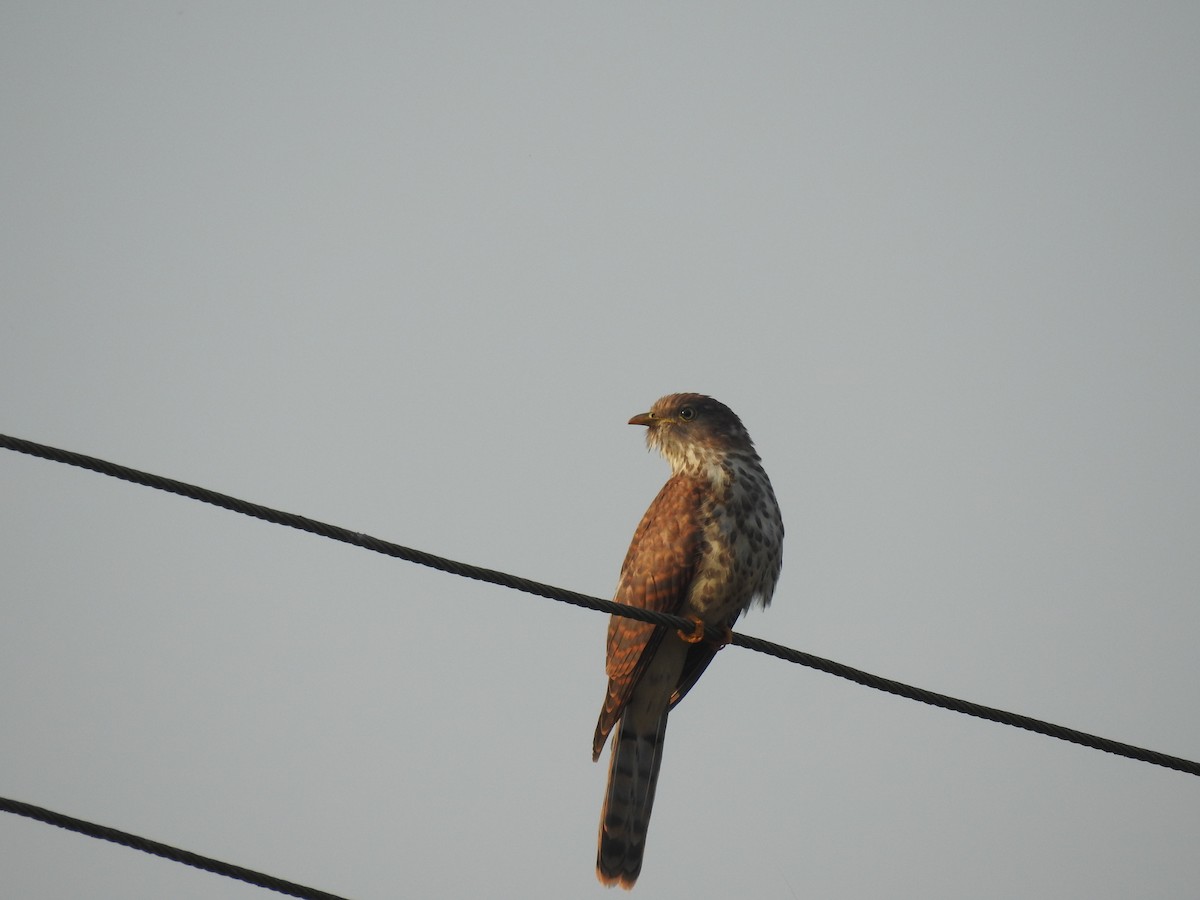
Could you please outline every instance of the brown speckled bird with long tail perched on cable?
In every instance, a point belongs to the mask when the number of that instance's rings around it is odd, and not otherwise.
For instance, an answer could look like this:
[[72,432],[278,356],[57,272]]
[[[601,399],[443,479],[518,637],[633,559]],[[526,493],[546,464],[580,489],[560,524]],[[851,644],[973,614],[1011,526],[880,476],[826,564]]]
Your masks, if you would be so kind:
[[[667,715],[728,643],[737,618],[770,602],[784,558],[775,492],[732,409],[703,394],[668,394],[629,424],[646,427],[671,478],[634,533],[613,599],[694,628],[608,622],[608,686],[592,744],[595,762],[613,733],[596,876],[626,890],[642,870]],[[703,640],[706,626],[724,630],[725,641]]]

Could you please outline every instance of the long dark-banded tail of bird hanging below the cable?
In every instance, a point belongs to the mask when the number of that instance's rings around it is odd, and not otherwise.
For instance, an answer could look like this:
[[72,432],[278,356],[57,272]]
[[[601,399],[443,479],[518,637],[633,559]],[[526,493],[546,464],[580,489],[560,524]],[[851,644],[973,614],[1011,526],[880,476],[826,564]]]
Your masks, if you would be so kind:
[[642,870],[667,712],[664,709],[656,719],[650,719],[628,709],[612,738],[608,791],[600,811],[600,847],[596,851],[596,875],[610,887],[620,884],[629,890]]

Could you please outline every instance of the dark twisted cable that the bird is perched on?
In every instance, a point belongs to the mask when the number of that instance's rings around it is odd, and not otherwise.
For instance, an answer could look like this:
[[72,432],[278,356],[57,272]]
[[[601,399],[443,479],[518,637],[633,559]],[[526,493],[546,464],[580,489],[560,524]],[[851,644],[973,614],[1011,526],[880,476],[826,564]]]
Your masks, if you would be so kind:
[[[342,541],[343,544],[353,544],[356,547],[364,547],[365,550],[371,550],[376,553],[383,553],[397,559],[418,563],[420,565],[450,572],[451,575],[458,575],[464,578],[485,581],[491,584],[512,588],[514,590],[522,590],[527,594],[535,594],[551,600],[559,600],[562,602],[583,606],[589,610],[598,610],[600,612],[612,613],[616,616],[625,616],[631,619],[640,619],[642,622],[649,622],[666,628],[686,629],[690,631],[695,625],[694,622],[678,616],[668,616],[652,610],[625,606],[624,604],[617,604],[612,600],[588,596],[587,594],[557,588],[552,584],[544,584],[538,581],[530,581],[528,578],[509,575],[494,569],[484,569],[478,565],[460,563],[454,559],[446,559],[445,557],[434,556],[420,550],[413,550],[410,547],[403,547],[398,544],[391,544],[390,541],[372,538],[367,534],[352,532],[347,528],[340,528],[325,522],[318,522],[317,520],[306,518],[292,512],[283,512],[281,510],[271,509],[270,506],[262,506],[257,503],[241,500],[236,497],[229,497],[228,494],[217,493],[216,491],[210,491],[204,487],[197,487],[196,485],[188,485],[184,481],[176,481],[174,479],[154,475],[148,472],[131,469],[126,466],[119,466],[104,460],[97,460],[92,456],[84,456],[83,454],[77,454],[71,450],[60,450],[58,448],[46,446],[44,444],[35,444],[31,440],[23,440],[6,434],[0,434],[0,446],[8,450],[16,450],[17,452],[28,454],[30,456],[37,456],[43,460],[52,460],[54,462],[90,469],[103,475],[121,479],[122,481],[131,481],[137,485],[154,487],[160,491],[168,491],[182,497],[190,497],[191,499],[221,506],[222,509],[240,512],[245,516],[252,516],[254,518],[262,518],[266,522],[288,526],[289,528],[296,528],[301,532],[308,532],[323,538]],[[713,641],[720,641],[726,637],[726,634],[720,629],[707,628],[704,630],[704,636]],[[941,707],[942,709],[949,709],[965,715],[973,715],[979,719],[1000,722],[1001,725],[1009,725],[1015,728],[1025,728],[1026,731],[1057,738],[1058,740],[1068,740],[1074,744],[1081,744],[1082,746],[1088,746],[1094,750],[1103,750],[1129,760],[1140,760],[1141,762],[1148,762],[1153,766],[1163,766],[1169,769],[1175,769],[1176,772],[1184,772],[1189,775],[1200,775],[1200,763],[1193,762],[1192,760],[1183,760],[1178,756],[1169,756],[1168,754],[1160,754],[1156,750],[1146,750],[1145,748],[1110,740],[1109,738],[1103,738],[1097,734],[1088,734],[1087,732],[1075,731],[1074,728],[1066,728],[1061,725],[1042,721],[1040,719],[1032,719],[1027,715],[985,707],[980,703],[959,700],[944,694],[936,694],[922,688],[916,688],[911,684],[904,684],[902,682],[895,682],[890,678],[883,678],[881,676],[871,674],[870,672],[863,672],[862,670],[852,668],[851,666],[842,665],[841,662],[834,662],[833,660],[827,660],[821,656],[815,656],[810,653],[804,653],[803,650],[796,650],[791,647],[784,647],[778,643],[772,643],[770,641],[763,641],[758,637],[733,634],[732,643],[737,647],[744,647],[757,653],[764,653],[787,662],[797,662],[802,666],[808,666],[809,668],[816,668],[822,672],[827,672],[828,674],[838,676],[839,678],[846,678],[866,688],[886,691],[887,694],[894,694],[900,697],[907,697],[908,700],[916,700],[922,703]]]

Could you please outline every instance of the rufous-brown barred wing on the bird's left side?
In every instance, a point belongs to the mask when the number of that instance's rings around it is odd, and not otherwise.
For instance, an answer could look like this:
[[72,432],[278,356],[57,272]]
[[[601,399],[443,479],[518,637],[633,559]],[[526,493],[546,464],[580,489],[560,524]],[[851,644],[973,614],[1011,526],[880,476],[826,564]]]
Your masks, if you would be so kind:
[[[620,568],[617,602],[658,612],[678,612],[688,599],[700,554],[700,504],[704,485],[676,475],[646,510]],[[665,629],[613,616],[608,623],[608,692],[605,695],[592,751],[600,756],[608,732],[662,641]]]

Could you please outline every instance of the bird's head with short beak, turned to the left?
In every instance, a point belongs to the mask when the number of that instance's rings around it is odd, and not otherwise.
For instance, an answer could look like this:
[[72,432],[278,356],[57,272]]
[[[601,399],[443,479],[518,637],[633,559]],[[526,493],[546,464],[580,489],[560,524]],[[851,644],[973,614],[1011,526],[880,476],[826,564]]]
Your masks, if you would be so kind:
[[629,424],[646,426],[647,446],[661,452],[676,474],[715,475],[731,454],[757,456],[734,412],[703,394],[668,394]]

